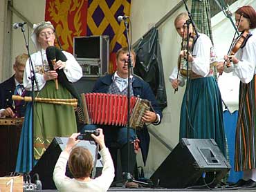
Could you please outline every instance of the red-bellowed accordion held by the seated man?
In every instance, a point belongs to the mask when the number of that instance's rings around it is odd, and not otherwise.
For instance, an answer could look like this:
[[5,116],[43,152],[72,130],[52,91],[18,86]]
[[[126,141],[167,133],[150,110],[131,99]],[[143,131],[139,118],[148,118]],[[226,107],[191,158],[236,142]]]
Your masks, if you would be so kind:
[[[108,93],[82,93],[82,112],[78,119],[84,124],[104,124],[113,126],[127,125],[127,95]],[[150,102],[139,97],[130,98],[129,126],[143,127],[142,117],[150,109]]]

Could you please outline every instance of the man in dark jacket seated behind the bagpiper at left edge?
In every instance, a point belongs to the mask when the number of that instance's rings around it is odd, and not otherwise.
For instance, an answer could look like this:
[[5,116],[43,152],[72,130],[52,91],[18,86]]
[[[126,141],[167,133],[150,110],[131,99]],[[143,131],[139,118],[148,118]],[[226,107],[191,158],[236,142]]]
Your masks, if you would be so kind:
[[15,58],[13,70],[15,74],[0,84],[0,117],[24,117],[25,102],[12,101],[12,95],[25,96],[25,88],[23,86],[23,75],[28,59],[27,54],[18,55]]

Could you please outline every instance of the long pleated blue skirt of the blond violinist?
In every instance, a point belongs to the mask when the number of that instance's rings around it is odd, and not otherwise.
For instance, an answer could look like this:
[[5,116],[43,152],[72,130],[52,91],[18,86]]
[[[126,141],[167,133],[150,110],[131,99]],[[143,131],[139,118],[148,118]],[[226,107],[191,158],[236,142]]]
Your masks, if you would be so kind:
[[181,138],[214,139],[227,156],[221,93],[214,77],[188,80],[181,106]]

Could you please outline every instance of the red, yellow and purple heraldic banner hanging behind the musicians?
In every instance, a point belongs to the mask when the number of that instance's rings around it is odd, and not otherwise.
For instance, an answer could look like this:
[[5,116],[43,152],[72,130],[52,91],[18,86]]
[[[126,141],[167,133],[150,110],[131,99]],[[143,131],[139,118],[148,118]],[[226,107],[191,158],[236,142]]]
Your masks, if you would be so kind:
[[109,36],[109,73],[116,70],[116,51],[127,46],[125,24],[131,0],[46,0],[45,20],[51,21],[63,50],[73,53],[73,37]]

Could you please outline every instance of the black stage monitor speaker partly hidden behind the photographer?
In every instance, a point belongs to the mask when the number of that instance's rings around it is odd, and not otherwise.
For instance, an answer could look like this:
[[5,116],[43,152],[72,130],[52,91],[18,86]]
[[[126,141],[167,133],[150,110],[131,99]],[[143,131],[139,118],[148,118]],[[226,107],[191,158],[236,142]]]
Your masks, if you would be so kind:
[[[42,182],[42,189],[56,189],[53,181],[53,170],[60,153],[66,146],[67,141],[68,137],[55,137],[40,160],[38,160],[37,164],[33,167],[33,170],[30,171],[31,177],[33,177],[35,173],[39,174],[39,180]],[[95,160],[96,145],[94,142],[82,140],[77,144],[77,146],[84,146],[85,148],[88,148],[93,155],[93,160]],[[96,176],[98,176],[102,170],[101,160],[97,160],[96,167]],[[68,177],[73,177],[68,166],[66,166],[66,175],[68,175]]]

